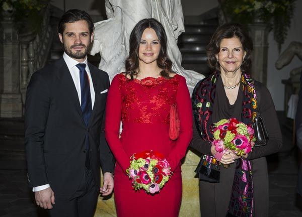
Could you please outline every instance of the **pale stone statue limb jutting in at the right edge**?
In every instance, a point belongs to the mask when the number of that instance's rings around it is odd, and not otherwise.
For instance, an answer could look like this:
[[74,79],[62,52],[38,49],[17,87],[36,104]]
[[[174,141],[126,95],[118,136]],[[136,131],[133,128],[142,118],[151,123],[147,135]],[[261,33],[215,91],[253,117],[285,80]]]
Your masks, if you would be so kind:
[[[280,54],[277,59],[275,66],[277,69],[283,68],[283,66],[289,64],[292,58],[296,55],[300,60],[302,60],[302,43],[301,42],[291,42],[288,47]],[[294,68],[290,71],[290,79],[292,81],[299,81],[300,73],[302,71],[302,66]]]

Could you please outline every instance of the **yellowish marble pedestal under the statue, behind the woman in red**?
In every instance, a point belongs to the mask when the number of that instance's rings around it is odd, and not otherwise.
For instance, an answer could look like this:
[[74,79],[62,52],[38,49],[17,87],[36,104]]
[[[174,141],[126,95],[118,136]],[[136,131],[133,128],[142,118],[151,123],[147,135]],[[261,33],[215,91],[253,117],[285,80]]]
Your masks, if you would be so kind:
[[[195,176],[195,168],[199,163],[200,157],[193,152],[188,151],[185,162],[182,164],[183,195],[180,207],[180,217],[199,217],[199,190],[198,178]],[[125,198],[127,199],[127,198]],[[114,194],[109,199],[99,198],[95,217],[112,217],[116,216]],[[169,216],[169,214],[167,214]]]

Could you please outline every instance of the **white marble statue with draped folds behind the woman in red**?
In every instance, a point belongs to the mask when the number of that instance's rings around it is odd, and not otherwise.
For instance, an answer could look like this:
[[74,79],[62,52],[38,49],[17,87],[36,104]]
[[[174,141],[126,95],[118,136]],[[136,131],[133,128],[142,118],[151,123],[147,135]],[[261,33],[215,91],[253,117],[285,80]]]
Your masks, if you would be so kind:
[[105,0],[108,20],[95,23],[95,37],[91,55],[100,53],[99,68],[112,79],[124,71],[129,53],[129,36],[136,23],[144,18],[155,18],[162,23],[168,38],[168,55],[173,70],[183,75],[190,91],[204,76],[181,66],[182,56],[177,39],[184,32],[181,0]]

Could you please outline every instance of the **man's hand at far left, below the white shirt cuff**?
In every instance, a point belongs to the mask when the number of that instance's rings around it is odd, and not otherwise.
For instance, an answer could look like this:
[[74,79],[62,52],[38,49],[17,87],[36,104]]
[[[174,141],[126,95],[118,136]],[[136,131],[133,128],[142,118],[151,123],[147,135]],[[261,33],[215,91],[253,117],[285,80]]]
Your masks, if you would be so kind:
[[45,209],[51,209],[54,204],[54,193],[51,188],[35,192],[35,199],[38,206]]

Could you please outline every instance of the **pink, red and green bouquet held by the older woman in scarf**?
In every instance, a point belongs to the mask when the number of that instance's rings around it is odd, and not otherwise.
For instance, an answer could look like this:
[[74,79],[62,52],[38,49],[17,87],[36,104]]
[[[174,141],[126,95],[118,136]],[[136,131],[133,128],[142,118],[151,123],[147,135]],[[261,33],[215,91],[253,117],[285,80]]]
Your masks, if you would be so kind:
[[238,156],[250,153],[256,141],[254,129],[236,118],[222,119],[215,123],[213,135],[212,145],[217,152],[221,153],[229,149]]

